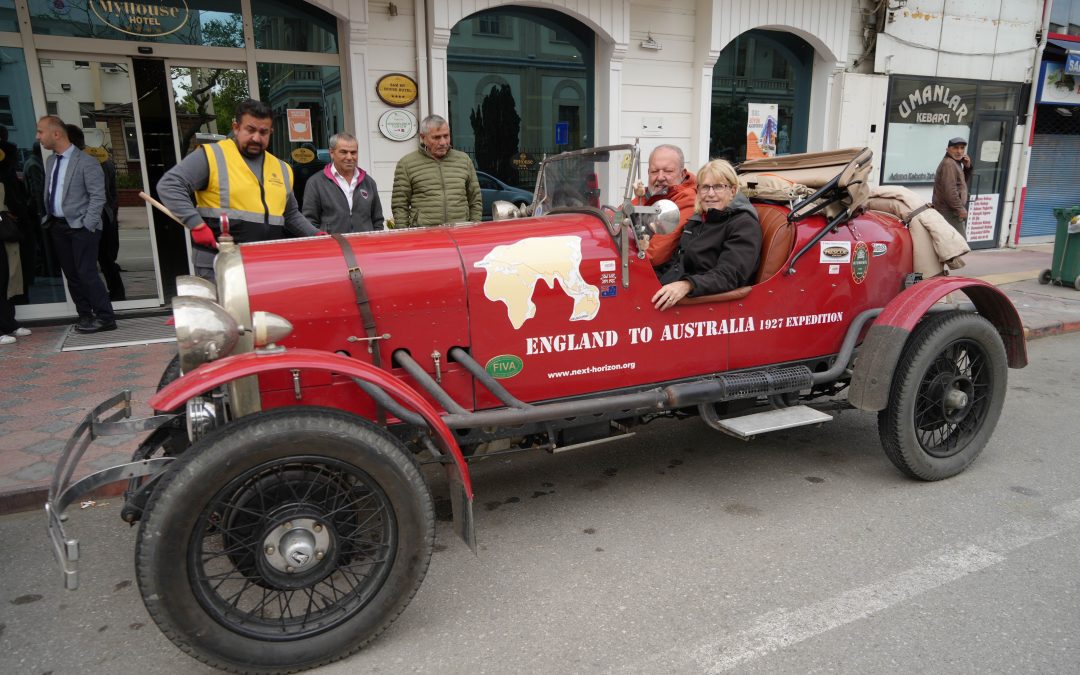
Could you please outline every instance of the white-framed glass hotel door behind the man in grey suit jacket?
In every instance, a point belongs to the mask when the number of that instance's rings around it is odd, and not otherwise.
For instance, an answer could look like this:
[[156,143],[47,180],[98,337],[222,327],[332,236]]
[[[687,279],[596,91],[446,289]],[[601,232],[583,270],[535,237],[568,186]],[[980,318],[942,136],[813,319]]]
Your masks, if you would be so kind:
[[[162,288],[149,206],[138,197],[147,185],[132,62],[122,56],[75,57],[39,52],[45,109],[83,136],[84,150],[102,162],[107,205],[98,267],[114,309],[159,307]],[[48,156],[48,151],[43,151]],[[42,186],[31,185],[40,191]],[[36,242],[33,314],[73,315],[48,231]],[[29,314],[28,314],[29,315]]]

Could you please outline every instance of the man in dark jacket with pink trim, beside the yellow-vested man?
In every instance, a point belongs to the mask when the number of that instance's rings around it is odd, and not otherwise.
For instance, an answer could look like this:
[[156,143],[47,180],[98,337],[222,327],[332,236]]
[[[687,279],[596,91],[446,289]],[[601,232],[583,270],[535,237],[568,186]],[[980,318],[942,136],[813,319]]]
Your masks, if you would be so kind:
[[330,234],[383,229],[382,203],[375,180],[356,166],[356,137],[345,132],[330,136],[326,167],[308,178],[303,215]]

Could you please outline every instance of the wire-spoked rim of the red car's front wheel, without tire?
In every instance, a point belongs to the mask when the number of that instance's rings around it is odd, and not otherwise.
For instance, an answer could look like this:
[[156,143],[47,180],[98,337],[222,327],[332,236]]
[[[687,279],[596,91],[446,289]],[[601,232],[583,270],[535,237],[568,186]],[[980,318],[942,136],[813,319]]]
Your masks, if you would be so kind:
[[261,464],[203,510],[189,546],[200,603],[231,630],[296,639],[360,611],[393,564],[396,522],[355,467],[313,457]]

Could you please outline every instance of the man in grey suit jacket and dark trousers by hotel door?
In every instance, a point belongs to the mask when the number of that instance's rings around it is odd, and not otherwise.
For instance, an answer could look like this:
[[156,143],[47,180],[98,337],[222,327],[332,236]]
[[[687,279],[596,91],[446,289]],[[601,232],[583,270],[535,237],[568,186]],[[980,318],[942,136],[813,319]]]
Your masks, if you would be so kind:
[[105,208],[105,174],[97,160],[75,147],[64,120],[38,120],[38,141],[52,150],[45,162],[45,218],[68,292],[79,312],[79,333],[117,327],[109,292],[97,274],[97,251]]

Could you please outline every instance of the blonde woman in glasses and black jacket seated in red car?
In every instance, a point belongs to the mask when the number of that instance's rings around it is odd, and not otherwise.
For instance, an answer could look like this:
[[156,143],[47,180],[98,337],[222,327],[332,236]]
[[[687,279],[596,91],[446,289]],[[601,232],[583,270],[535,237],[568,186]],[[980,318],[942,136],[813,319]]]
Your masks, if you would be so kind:
[[750,285],[761,253],[757,211],[739,193],[734,167],[713,160],[698,172],[694,214],[686,222],[673,265],[652,296],[665,310],[683,298]]

